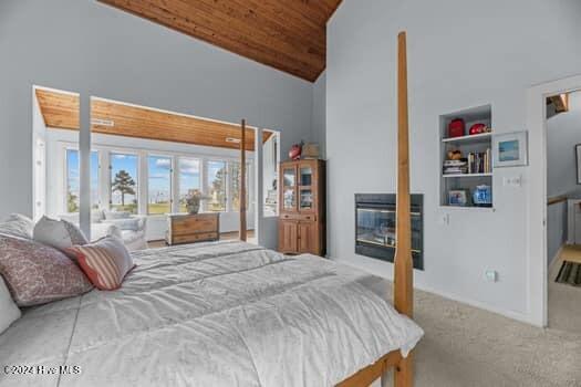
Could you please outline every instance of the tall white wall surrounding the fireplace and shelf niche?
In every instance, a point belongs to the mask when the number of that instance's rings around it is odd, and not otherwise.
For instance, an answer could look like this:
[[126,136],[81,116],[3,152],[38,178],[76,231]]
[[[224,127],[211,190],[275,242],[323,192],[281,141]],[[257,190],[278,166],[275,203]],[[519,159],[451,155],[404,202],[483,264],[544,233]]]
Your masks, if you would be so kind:
[[[495,211],[440,208],[438,116],[491,104],[496,133],[526,129],[526,90],[581,71],[580,15],[577,0],[343,1],[328,27],[330,255],[392,278],[392,264],[355,255],[352,209],[355,192],[395,191],[396,35],[405,29],[412,190],[426,209],[416,284],[530,320],[528,168],[495,171]],[[502,186],[520,175],[522,187]],[[497,283],[485,281],[488,269]]]

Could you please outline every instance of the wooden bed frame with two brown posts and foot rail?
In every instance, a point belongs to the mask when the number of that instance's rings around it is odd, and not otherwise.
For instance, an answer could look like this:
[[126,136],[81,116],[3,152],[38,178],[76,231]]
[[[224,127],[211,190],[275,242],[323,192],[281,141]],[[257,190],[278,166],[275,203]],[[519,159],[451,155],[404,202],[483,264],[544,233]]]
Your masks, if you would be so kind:
[[[240,240],[246,241],[246,121],[241,124],[240,142]],[[397,213],[396,250],[394,263],[394,306],[409,317],[414,312],[412,220],[409,199],[409,135],[407,109],[407,44],[406,33],[397,35]],[[382,378],[387,386],[388,372],[394,369],[395,387],[414,385],[413,353],[403,358],[400,349],[393,351],[367,366],[338,387],[370,386]]]

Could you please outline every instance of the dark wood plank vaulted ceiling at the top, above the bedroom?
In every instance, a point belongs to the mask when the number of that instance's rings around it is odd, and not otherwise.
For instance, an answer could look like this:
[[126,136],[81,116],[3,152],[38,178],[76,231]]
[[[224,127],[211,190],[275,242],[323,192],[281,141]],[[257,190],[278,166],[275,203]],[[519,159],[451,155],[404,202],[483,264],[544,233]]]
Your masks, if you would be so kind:
[[239,55],[317,81],[341,0],[100,0]]

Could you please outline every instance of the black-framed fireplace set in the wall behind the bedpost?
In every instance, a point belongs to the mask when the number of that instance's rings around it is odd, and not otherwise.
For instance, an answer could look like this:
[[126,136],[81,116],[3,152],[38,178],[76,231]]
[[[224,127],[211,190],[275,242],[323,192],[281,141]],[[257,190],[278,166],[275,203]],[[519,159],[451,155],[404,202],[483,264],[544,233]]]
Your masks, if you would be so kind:
[[[424,196],[412,195],[412,258],[424,270]],[[388,262],[395,257],[395,194],[355,195],[355,253]]]

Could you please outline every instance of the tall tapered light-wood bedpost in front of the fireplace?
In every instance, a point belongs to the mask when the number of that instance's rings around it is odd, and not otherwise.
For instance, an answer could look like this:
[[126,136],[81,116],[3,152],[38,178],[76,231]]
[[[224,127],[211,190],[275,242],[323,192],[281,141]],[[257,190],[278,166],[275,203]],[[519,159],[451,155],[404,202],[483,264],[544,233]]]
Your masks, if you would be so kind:
[[[394,305],[409,317],[414,314],[414,265],[409,202],[409,123],[407,111],[406,33],[397,35],[397,213],[394,269]],[[395,387],[414,384],[412,354],[395,367]]]

